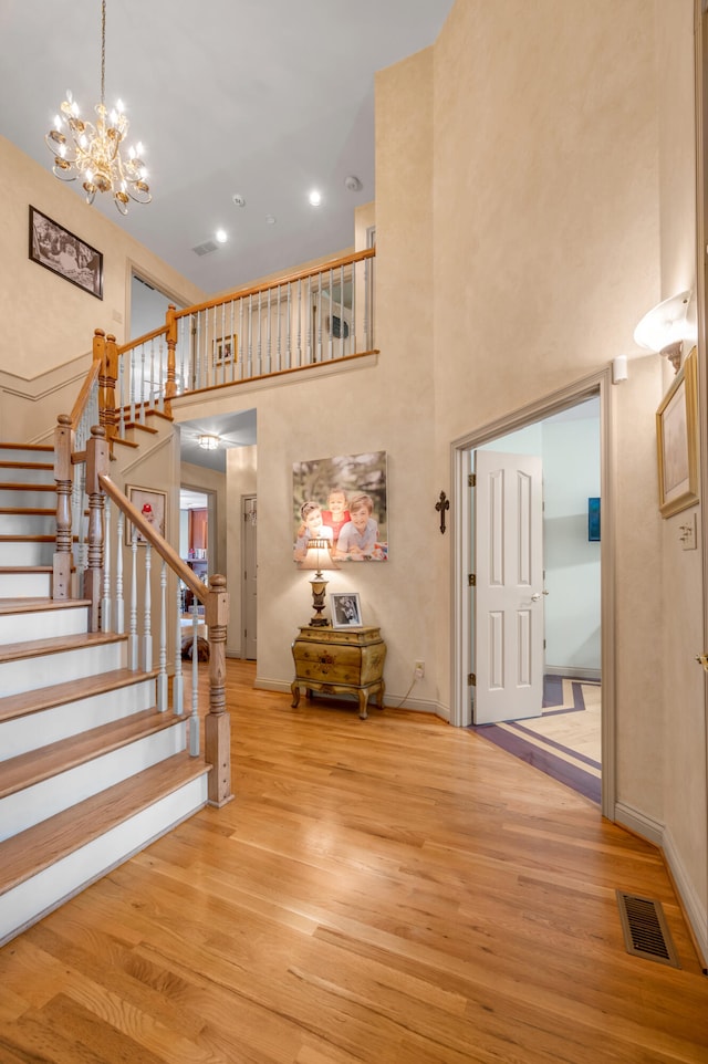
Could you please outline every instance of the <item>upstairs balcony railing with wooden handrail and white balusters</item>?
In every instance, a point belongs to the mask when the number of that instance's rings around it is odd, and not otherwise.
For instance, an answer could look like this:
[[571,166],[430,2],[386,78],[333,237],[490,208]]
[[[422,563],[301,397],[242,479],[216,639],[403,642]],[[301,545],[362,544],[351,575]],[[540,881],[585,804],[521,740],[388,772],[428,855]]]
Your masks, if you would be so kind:
[[103,386],[115,393],[114,435],[126,421],[144,423],[150,408],[169,414],[179,395],[375,351],[375,254],[355,252],[185,310],[170,306],[164,326],[114,347],[112,367],[108,351]]

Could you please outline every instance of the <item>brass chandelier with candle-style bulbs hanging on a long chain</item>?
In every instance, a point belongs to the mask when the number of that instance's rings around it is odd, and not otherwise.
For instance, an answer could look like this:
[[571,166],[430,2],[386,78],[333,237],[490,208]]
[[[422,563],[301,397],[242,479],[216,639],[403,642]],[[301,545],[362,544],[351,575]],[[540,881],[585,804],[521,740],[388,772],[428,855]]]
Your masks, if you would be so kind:
[[[80,117],[79,104],[71,92],[54,118],[54,128],[44,137],[54,155],[52,173],[62,181],[81,180],[86,202],[93,204],[96,192],[111,192],[122,215],[127,215],[128,202],[149,204],[150,188],[147,171],[140,159],[143,145],[131,147],[127,157],[121,156],[121,144],[128,132],[128,119],[118,100],[108,114],[105,107],[106,77],[106,0],[102,2],[101,21],[101,103],[95,124]],[[64,132],[65,131],[65,132]]]

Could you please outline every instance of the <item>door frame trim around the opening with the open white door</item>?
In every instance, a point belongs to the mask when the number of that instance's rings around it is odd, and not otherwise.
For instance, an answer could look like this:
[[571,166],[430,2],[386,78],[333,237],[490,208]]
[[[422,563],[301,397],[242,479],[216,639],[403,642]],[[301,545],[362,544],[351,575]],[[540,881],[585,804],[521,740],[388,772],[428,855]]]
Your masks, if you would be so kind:
[[615,810],[615,657],[614,657],[614,482],[612,477],[612,372],[611,367],[583,377],[558,392],[504,415],[467,436],[452,440],[451,457],[451,528],[452,654],[450,659],[450,723],[465,727],[469,722],[471,639],[468,586],[468,544],[472,534],[467,483],[466,453],[482,444],[507,436],[527,425],[575,406],[593,395],[600,397],[600,483],[603,499],[601,560],[601,669],[602,669],[602,801],[601,812],[614,820]]

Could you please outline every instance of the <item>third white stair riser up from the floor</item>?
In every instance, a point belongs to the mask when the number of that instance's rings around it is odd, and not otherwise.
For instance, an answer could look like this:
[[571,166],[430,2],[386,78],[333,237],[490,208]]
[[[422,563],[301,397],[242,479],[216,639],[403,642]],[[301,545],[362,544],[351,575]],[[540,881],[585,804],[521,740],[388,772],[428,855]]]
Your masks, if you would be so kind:
[[0,724],[0,762],[80,736],[114,720],[125,720],[155,706],[155,679],[102,691],[63,706],[17,717]]

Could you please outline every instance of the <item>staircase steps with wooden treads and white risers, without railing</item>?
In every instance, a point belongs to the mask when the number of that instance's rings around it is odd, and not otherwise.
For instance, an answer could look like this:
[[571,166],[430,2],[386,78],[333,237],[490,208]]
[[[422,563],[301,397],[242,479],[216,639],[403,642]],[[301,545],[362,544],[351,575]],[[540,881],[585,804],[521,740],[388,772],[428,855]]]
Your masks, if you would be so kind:
[[0,946],[207,802],[157,674],[51,598],[55,513],[52,449],[0,444]]

